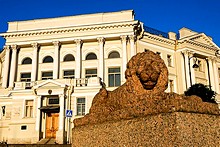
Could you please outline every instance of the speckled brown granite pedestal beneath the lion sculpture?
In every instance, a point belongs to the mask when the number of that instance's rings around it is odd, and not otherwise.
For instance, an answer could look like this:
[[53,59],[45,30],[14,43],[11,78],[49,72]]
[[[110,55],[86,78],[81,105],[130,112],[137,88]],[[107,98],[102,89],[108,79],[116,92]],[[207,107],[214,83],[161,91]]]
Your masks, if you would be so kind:
[[220,144],[219,132],[219,115],[160,113],[75,127],[72,146],[216,147]]

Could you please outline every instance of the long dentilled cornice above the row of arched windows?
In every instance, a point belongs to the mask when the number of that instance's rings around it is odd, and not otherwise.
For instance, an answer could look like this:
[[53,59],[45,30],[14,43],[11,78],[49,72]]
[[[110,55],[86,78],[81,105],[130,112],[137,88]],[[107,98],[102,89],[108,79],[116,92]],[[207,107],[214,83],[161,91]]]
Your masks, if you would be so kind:
[[24,36],[73,33],[73,32],[81,32],[81,31],[96,31],[96,30],[115,29],[115,28],[118,29],[118,28],[134,27],[134,24],[136,23],[138,23],[138,21],[99,24],[99,25],[86,25],[86,26],[72,26],[65,28],[51,28],[51,29],[30,30],[30,31],[21,31],[21,32],[7,32],[0,34],[0,36],[3,36],[5,38],[11,38],[11,37],[21,37],[21,36],[24,37]]

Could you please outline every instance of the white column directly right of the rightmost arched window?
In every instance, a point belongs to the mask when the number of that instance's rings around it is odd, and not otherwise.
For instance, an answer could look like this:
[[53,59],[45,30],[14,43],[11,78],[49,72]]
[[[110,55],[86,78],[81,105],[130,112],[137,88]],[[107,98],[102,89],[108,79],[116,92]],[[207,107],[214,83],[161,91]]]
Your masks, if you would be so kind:
[[[125,70],[127,68],[127,36],[121,36],[122,41],[122,75],[125,74]],[[125,82],[125,78],[123,76],[122,81]]]

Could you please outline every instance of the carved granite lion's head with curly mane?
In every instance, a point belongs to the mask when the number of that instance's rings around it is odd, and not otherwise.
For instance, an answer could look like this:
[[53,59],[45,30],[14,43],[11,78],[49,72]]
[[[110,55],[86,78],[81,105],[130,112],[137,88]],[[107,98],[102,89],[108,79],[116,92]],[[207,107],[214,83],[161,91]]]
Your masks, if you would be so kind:
[[167,88],[168,70],[158,54],[146,51],[130,59],[125,78],[135,84],[132,89],[138,85],[149,92],[162,92]]

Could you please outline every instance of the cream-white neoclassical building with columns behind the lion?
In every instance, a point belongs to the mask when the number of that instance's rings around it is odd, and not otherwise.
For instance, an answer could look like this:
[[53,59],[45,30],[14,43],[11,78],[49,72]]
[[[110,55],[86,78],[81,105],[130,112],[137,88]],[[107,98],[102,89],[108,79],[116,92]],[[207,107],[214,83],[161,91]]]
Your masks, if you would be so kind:
[[219,94],[211,37],[187,28],[163,33],[132,10],[9,22],[0,35],[0,141],[71,143],[72,121],[89,112],[100,82],[108,90],[123,84],[127,61],[145,50],[164,59],[167,92],[203,83]]

